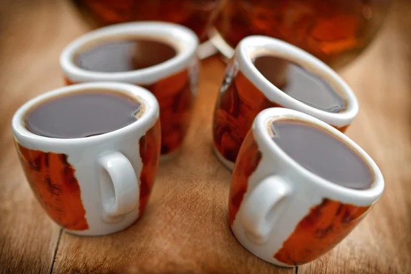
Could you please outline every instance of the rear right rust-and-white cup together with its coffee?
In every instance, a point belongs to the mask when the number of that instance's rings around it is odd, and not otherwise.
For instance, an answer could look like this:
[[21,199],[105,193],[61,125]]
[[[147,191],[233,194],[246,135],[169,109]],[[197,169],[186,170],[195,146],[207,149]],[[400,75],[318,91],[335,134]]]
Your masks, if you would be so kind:
[[358,113],[356,96],[329,66],[286,42],[249,36],[227,66],[214,110],[214,149],[227,168],[254,118],[274,107],[310,114],[341,132]]

